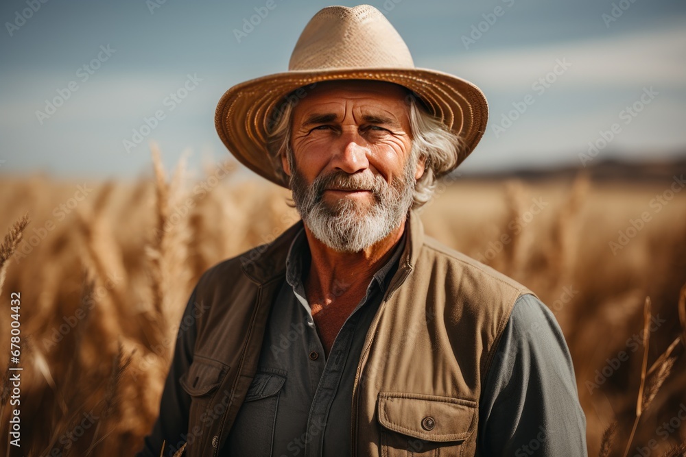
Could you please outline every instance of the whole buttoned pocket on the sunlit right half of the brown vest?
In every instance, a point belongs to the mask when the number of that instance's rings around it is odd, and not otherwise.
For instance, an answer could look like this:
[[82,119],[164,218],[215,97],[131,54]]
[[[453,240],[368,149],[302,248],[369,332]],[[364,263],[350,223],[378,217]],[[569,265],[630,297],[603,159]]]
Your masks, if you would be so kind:
[[379,393],[381,456],[460,456],[477,427],[477,404],[417,393]]

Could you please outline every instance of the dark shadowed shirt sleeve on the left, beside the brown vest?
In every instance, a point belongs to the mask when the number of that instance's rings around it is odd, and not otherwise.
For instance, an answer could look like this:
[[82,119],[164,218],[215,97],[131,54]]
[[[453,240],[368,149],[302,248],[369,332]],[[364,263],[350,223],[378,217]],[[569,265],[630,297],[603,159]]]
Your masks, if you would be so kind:
[[[193,362],[197,306],[196,293],[193,291],[180,321],[181,325],[179,325],[174,345],[174,359],[169,367],[160,402],[160,413],[152,427],[152,432],[145,436],[143,449],[136,454],[136,457],[172,456],[185,443],[191,397],[179,384],[179,379],[188,371]],[[163,443],[165,443],[165,449],[161,454]]]

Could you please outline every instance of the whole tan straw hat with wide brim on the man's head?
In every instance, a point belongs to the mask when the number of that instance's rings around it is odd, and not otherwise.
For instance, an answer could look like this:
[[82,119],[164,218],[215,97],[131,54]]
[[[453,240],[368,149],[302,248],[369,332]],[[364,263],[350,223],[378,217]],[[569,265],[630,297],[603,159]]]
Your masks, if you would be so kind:
[[[456,166],[486,129],[488,104],[477,86],[447,73],[415,68],[410,50],[388,19],[373,6],[358,5],[329,6],[315,14],[300,34],[287,72],[227,90],[215,112],[217,132],[239,162],[287,188],[267,149],[274,108],[298,88],[335,79],[386,81],[412,90],[464,140]],[[294,95],[307,97],[307,88]]]

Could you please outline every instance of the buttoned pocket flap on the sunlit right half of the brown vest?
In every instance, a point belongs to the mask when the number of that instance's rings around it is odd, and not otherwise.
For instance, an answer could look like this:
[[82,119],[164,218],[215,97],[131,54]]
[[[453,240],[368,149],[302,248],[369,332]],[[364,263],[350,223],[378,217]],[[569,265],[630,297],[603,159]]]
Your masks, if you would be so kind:
[[477,404],[417,393],[379,393],[379,423],[425,441],[464,441],[475,428]]

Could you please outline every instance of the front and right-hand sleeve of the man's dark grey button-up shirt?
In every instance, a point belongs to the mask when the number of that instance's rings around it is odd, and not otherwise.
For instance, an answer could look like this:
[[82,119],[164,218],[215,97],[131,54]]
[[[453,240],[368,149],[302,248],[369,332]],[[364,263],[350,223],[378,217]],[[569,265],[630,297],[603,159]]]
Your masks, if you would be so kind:
[[[405,242],[403,235],[390,260],[375,273],[327,358],[305,298],[302,276],[310,256],[305,231],[298,233],[255,379],[221,454],[351,454],[351,398],[359,355]],[[335,295],[332,291],[329,306],[335,306]],[[514,306],[482,388],[482,455],[585,456],[585,430],[562,332],[541,301],[524,295]]]

